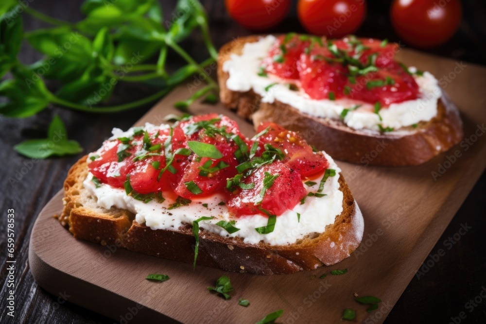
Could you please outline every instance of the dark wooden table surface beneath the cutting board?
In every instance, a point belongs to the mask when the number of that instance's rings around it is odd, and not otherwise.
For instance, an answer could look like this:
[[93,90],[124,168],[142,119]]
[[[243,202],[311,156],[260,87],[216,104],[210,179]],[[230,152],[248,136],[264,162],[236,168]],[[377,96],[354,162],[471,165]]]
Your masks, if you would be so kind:
[[[82,18],[79,12],[81,0],[34,1],[32,5],[44,13],[66,20]],[[174,1],[161,1],[165,15],[169,16]],[[232,22],[226,14],[223,1],[203,1],[210,17],[212,37],[217,46],[230,40],[234,35],[249,34]],[[359,35],[399,38],[390,28],[388,19],[389,0],[368,1],[368,16]],[[372,2],[372,3],[371,3]],[[458,33],[446,44],[431,52],[456,60],[486,64],[486,4],[481,0],[464,0],[464,19]],[[39,28],[44,24],[25,16],[26,30]],[[302,31],[295,18],[295,10],[274,32]],[[200,39],[191,37],[185,47],[201,56]],[[39,56],[28,46],[21,50],[24,62],[33,62]],[[203,56],[200,57],[204,58]],[[174,66],[177,62],[174,62]],[[129,91],[128,91],[129,90]],[[121,86],[114,97],[118,101],[130,101],[143,87],[128,88]],[[29,164],[30,159],[18,155],[13,146],[22,140],[45,135],[54,114],[65,121],[69,137],[79,141],[84,153],[96,150],[102,140],[110,134],[113,127],[126,129],[139,119],[148,109],[146,107],[114,115],[90,115],[50,107],[35,117],[27,119],[7,119],[0,117],[0,188],[1,223],[0,248],[0,323],[113,323],[113,320],[69,303],[64,291],[52,295],[35,283],[29,271],[28,246],[32,226],[37,214],[52,196],[62,188],[69,167],[81,156],[52,158]],[[485,140],[485,139],[481,139]],[[22,179],[12,185],[9,178],[26,166],[29,171]],[[25,170],[24,170],[25,171]],[[434,265],[421,269],[387,316],[385,323],[486,323],[486,229],[485,218],[486,174],[483,173],[456,216],[445,229],[431,251],[434,255],[439,249],[446,251]],[[6,261],[6,220],[7,210],[15,209],[15,319],[6,315],[8,274]],[[455,244],[447,240],[458,233],[461,226],[469,226],[467,233]],[[450,248],[450,249],[449,249]],[[429,262],[432,264],[432,262]],[[485,295],[483,292],[483,296]],[[462,319],[461,312],[464,312]]]

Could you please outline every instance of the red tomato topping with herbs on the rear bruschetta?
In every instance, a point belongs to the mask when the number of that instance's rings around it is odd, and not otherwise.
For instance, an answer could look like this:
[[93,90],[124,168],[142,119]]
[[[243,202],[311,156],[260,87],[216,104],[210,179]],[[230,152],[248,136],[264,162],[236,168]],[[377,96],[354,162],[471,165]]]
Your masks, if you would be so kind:
[[419,93],[415,79],[394,60],[398,51],[398,44],[373,38],[321,42],[291,34],[278,37],[262,64],[272,75],[298,80],[312,99],[351,98],[386,107]]

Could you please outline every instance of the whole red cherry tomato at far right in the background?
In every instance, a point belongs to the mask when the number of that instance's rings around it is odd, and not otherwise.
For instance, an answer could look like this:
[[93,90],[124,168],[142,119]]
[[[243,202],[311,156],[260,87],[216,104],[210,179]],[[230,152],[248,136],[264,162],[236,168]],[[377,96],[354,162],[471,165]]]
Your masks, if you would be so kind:
[[407,43],[433,47],[447,41],[461,22],[459,0],[394,0],[393,27]]

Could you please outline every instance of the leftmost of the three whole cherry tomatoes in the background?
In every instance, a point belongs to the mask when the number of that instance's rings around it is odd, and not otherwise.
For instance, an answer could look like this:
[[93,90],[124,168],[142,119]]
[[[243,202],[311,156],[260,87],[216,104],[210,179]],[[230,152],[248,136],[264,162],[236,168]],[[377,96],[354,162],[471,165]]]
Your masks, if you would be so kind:
[[264,30],[287,16],[290,0],[225,0],[229,15],[243,27]]

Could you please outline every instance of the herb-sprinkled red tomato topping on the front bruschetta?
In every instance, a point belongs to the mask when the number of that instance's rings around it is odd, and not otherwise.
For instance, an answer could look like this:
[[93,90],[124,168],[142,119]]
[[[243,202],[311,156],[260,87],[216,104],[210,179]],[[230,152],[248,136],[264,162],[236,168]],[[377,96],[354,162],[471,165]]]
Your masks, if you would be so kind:
[[[280,215],[307,194],[303,179],[322,173],[329,163],[297,133],[274,123],[260,125],[259,131],[263,130],[263,135],[252,140],[227,117],[197,116],[173,128],[107,140],[88,167],[110,186],[124,188],[129,182],[137,198],[159,192],[186,199],[221,193],[238,217]],[[194,142],[204,148],[197,149]],[[276,174],[263,194],[265,176]]]

